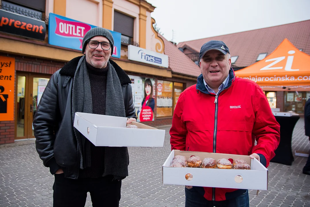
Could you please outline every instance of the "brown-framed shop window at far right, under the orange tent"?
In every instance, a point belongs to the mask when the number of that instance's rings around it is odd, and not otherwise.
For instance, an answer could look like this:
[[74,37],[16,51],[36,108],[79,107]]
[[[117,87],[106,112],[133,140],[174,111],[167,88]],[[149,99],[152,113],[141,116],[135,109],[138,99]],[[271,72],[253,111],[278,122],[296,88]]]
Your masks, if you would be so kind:
[[303,114],[305,103],[309,97],[309,92],[286,91],[284,93],[284,111]]

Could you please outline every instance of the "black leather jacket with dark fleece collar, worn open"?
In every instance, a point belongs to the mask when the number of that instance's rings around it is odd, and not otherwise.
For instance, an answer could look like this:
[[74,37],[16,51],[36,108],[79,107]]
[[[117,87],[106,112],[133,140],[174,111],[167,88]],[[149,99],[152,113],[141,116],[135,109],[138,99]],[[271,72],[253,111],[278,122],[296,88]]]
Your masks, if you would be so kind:
[[[51,174],[62,168],[64,176],[73,179],[78,178],[80,149],[73,131],[71,101],[73,77],[80,58],[72,59],[51,76],[33,120],[36,149],[44,166],[50,168]],[[122,85],[126,117],[137,118],[131,80],[114,61],[109,61]]]

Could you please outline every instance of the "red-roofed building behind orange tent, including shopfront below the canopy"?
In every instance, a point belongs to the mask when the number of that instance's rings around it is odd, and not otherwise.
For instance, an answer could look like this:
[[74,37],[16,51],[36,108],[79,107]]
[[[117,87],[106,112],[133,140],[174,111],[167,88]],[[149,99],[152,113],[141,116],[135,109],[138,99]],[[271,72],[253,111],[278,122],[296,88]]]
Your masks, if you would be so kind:
[[[232,68],[236,71],[263,60],[285,38],[300,51],[310,55],[309,31],[310,20],[305,20],[286,25],[181,42],[177,47],[192,61],[199,64],[199,51],[204,43],[210,40],[223,41],[229,47]],[[293,111],[303,115],[304,105],[310,98],[310,86],[303,88],[261,86],[261,88],[267,96],[270,107],[279,108],[281,111]]]

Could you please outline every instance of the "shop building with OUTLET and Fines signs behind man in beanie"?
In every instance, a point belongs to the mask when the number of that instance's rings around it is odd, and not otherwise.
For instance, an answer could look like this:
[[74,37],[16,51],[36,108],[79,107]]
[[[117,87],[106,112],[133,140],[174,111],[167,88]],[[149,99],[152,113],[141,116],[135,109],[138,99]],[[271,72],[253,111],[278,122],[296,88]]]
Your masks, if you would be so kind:
[[179,94],[200,74],[154,30],[155,7],[145,0],[1,0],[0,5],[0,144],[34,138],[33,117],[51,75],[82,55],[81,40],[93,27],[111,30],[111,59],[130,76],[138,121],[144,124],[171,124]]

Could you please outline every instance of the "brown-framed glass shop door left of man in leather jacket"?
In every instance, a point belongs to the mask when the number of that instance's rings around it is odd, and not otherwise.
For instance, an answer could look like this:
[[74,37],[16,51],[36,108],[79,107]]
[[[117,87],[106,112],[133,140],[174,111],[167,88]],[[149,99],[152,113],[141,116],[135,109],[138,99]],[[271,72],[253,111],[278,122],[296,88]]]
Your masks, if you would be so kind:
[[51,75],[16,72],[15,139],[34,138],[32,121]]

